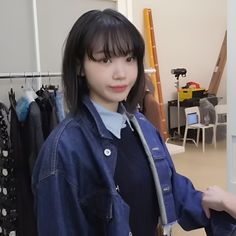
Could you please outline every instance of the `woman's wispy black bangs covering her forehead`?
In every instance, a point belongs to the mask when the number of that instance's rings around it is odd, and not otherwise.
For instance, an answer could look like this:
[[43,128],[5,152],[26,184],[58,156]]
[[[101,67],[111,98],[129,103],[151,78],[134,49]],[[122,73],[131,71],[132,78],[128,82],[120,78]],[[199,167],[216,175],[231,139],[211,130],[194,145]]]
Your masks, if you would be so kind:
[[[96,37],[94,37],[96,35]],[[104,15],[93,23],[93,28],[85,37],[85,50],[91,60],[94,54],[104,53],[105,57],[127,56],[132,54],[136,58],[143,58],[144,48],[140,47],[142,39],[137,35],[130,22],[120,21],[115,17]]]

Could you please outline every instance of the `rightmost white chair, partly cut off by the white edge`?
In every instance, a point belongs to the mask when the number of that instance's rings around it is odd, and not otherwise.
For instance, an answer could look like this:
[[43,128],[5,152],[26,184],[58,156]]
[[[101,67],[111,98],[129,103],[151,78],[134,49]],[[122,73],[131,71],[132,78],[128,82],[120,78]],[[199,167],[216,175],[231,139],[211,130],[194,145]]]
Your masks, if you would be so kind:
[[216,140],[217,127],[218,126],[227,126],[227,105],[218,104],[215,106],[216,120],[215,120],[215,131],[214,139]]

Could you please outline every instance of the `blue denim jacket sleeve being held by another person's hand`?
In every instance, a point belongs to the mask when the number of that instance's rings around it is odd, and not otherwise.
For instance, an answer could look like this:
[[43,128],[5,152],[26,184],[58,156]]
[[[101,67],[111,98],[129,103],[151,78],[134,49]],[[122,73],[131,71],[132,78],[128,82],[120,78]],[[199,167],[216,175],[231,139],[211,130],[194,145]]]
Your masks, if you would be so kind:
[[236,236],[236,220],[217,211],[212,211],[208,219],[202,208],[202,192],[195,189],[190,179],[176,172],[169,155],[167,160],[172,169],[172,192],[180,226],[187,231],[205,228],[208,236]]

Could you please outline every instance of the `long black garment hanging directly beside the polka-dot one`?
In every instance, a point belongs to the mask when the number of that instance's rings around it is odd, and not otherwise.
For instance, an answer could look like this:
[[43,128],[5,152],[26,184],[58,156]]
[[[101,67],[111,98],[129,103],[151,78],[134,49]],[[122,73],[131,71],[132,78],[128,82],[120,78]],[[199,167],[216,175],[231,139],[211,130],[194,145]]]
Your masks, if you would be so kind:
[[28,128],[26,124],[18,121],[14,99],[10,98],[10,102],[10,137],[12,156],[15,160],[16,167],[17,236],[37,236],[36,220],[33,210],[33,193],[31,191],[30,152],[28,150],[31,144],[29,142],[26,143],[29,134],[25,133]]

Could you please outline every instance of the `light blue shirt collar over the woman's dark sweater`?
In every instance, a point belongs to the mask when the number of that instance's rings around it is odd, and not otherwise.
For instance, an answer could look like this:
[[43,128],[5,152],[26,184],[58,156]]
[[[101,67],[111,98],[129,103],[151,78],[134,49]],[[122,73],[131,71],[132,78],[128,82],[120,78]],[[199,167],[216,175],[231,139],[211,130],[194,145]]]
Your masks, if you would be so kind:
[[[92,101],[92,100],[91,100]],[[121,129],[126,127],[126,122],[131,127],[130,121],[125,113],[125,110],[122,106],[119,107],[119,112],[110,111],[103,106],[92,101],[97,112],[99,113],[105,127],[118,139],[121,138]]]

